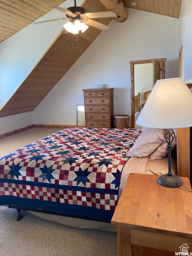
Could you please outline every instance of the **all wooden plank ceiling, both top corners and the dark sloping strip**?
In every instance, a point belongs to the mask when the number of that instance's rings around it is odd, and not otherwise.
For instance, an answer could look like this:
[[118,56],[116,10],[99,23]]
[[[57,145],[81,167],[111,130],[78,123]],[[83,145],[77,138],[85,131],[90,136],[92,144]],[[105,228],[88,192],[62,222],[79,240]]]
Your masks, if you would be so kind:
[[[17,33],[23,27],[52,10],[53,6],[58,6],[63,2],[65,1],[0,1],[0,40],[3,41]],[[123,0],[122,2],[125,7],[176,18],[179,17],[181,6],[181,0],[135,0],[134,2],[137,3],[135,6],[131,5],[130,0]],[[87,0],[83,3],[83,7],[86,12],[106,11],[99,0]],[[107,25],[111,19],[98,19],[98,21]],[[74,35],[61,34],[1,109],[0,117],[33,111],[100,33],[101,30],[89,27],[83,34],[79,33],[78,43]]]

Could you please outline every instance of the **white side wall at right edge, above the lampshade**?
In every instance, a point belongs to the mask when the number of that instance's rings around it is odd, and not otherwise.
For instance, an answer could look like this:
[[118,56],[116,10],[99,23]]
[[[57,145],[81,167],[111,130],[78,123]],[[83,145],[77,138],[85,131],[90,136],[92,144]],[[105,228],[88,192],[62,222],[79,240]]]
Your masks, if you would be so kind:
[[182,1],[179,18],[179,49],[182,51],[182,78],[186,83],[192,83],[192,1]]

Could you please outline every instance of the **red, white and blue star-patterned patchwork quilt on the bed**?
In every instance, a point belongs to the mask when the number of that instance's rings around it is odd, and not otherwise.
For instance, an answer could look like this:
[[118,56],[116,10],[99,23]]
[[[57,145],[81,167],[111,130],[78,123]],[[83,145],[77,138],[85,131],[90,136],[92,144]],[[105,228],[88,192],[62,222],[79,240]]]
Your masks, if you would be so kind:
[[110,222],[141,130],[71,128],[0,159],[0,205]]

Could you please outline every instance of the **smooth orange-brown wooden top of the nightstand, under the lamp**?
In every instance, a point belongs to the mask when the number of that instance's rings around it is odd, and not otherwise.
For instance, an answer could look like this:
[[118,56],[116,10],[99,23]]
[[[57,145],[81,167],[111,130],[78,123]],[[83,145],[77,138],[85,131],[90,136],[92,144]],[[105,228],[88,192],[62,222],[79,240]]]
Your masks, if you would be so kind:
[[[192,193],[167,188],[158,175],[130,173],[111,223],[116,227],[192,237]],[[183,186],[191,189],[188,178]]]

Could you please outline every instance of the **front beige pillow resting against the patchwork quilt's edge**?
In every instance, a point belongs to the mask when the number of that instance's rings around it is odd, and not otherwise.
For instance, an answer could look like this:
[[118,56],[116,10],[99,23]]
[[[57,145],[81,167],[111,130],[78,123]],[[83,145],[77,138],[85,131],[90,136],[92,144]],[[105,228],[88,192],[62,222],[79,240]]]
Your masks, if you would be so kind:
[[143,127],[141,134],[135,141],[133,147],[128,151],[127,156],[148,157],[164,141],[163,129],[151,129]]

